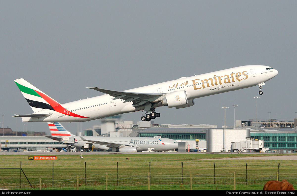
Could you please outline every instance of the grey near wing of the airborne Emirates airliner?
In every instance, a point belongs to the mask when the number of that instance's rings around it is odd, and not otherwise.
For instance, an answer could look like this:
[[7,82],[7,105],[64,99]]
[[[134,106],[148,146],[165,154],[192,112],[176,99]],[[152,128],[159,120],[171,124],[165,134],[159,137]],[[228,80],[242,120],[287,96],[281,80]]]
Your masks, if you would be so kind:
[[159,102],[163,97],[165,97],[165,93],[134,93],[126,91],[112,91],[97,87],[86,88],[94,89],[96,91],[109,94],[110,96],[114,97],[113,99],[124,99],[124,103],[133,102],[134,107],[145,105],[147,102]]

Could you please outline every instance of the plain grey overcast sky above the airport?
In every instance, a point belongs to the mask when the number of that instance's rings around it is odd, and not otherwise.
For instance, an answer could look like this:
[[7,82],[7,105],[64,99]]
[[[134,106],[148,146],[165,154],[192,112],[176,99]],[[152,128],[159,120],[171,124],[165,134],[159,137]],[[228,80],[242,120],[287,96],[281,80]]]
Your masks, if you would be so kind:
[[[211,124],[236,119],[296,118],[297,1],[0,1],[0,122],[12,130],[45,131],[21,122],[33,113],[14,81],[24,78],[60,103],[243,65],[279,74],[263,86],[163,106],[159,124]],[[122,120],[140,121],[141,111]],[[63,123],[72,133],[78,123]],[[100,120],[82,122],[82,129]],[[3,124],[0,125],[3,127]]]

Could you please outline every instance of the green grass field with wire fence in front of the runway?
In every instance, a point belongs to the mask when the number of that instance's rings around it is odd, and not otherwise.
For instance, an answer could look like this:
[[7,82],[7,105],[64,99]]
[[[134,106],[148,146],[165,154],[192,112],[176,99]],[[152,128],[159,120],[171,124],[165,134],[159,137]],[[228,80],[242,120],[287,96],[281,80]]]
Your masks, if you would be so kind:
[[[250,154],[57,153],[57,160],[0,155],[0,188],[9,190],[261,190],[279,178],[297,184],[296,161],[221,160]],[[296,155],[296,154],[292,154]],[[17,169],[12,169],[17,168]],[[20,169],[21,168],[21,169]],[[41,181],[41,183],[40,183]]]

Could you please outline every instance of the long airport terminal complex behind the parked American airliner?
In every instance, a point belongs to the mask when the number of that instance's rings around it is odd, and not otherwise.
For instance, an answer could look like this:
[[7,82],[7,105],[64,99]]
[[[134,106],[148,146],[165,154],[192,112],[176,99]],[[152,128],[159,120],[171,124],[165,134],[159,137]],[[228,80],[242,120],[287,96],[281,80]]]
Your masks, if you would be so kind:
[[[162,137],[191,144],[190,151],[195,149],[198,140],[206,141],[207,145],[203,152],[232,152],[231,142],[242,142],[245,138],[264,141],[264,146],[268,148],[267,153],[296,153],[297,152],[297,119],[292,122],[258,122],[258,128],[253,126],[253,121],[241,121],[241,126],[217,128],[217,125],[158,125],[154,122],[137,122],[131,125],[127,123],[114,127],[106,136],[138,136],[138,137]],[[269,122],[269,121],[268,121]],[[144,123],[144,124],[143,124]],[[250,126],[248,126],[250,125]],[[129,127],[129,128],[127,128]],[[5,128],[6,129],[6,128]],[[112,128],[113,129],[113,128]],[[3,128],[0,128],[0,135]],[[224,132],[225,131],[225,132]],[[86,130],[86,133],[89,130]],[[101,133],[101,130],[100,130]],[[222,135],[225,133],[225,135]],[[7,134],[7,132],[5,132]],[[45,136],[0,136],[0,149],[7,151],[48,151],[65,149],[66,145]],[[96,135],[93,132],[93,135]],[[98,134],[97,134],[98,135]],[[224,138],[225,137],[225,138]],[[224,138],[224,139],[223,139]],[[225,146],[222,144],[225,143]],[[193,144],[193,145],[192,145]],[[193,147],[194,146],[194,147]],[[196,146],[197,147],[197,146]]]

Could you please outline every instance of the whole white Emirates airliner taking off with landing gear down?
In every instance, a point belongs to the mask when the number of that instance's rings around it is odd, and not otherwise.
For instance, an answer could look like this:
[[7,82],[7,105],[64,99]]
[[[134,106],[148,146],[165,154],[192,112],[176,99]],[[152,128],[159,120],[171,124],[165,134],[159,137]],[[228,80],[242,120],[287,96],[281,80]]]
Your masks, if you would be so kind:
[[277,74],[277,70],[268,66],[240,66],[127,91],[92,87],[106,94],[64,104],[56,102],[26,80],[18,79],[15,83],[34,113],[14,117],[22,117],[23,122],[83,122],[127,112],[146,111],[141,120],[150,121],[160,116],[155,108],[164,105],[169,108],[186,108],[194,105],[195,98],[256,85],[261,95],[265,82]]

